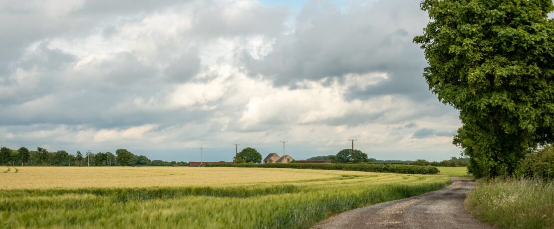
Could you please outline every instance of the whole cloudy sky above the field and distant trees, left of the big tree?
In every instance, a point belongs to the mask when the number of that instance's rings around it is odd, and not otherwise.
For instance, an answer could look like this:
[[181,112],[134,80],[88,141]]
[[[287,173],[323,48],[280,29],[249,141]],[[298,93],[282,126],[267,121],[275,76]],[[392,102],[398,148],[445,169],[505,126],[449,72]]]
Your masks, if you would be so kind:
[[0,1],[0,145],[231,160],[459,156],[418,0]]

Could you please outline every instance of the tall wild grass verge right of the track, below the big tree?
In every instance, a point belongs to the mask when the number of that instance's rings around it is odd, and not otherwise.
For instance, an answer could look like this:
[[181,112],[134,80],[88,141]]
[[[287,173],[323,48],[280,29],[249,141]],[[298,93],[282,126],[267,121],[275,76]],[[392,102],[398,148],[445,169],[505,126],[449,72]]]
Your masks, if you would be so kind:
[[465,205],[498,228],[554,228],[554,183],[535,179],[478,181]]

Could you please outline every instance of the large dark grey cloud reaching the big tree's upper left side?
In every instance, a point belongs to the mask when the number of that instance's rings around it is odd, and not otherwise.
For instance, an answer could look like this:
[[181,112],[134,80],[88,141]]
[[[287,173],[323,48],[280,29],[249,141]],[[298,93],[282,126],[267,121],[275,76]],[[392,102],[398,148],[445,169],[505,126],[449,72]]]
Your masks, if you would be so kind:
[[427,88],[421,77],[423,53],[412,43],[427,20],[419,1],[377,1],[346,13],[329,2],[311,2],[297,17],[294,33],[278,37],[273,53],[262,60],[245,58],[245,63],[276,84],[388,72],[389,81],[351,96],[427,95],[419,93]]

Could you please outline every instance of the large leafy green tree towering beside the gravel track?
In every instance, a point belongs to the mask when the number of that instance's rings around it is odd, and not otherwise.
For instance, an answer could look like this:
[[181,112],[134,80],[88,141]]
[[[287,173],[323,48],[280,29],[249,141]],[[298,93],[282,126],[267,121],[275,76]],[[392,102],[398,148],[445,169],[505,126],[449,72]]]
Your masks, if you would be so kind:
[[459,110],[454,144],[476,177],[511,175],[525,154],[554,140],[551,0],[423,0],[430,22],[414,38],[423,76]]

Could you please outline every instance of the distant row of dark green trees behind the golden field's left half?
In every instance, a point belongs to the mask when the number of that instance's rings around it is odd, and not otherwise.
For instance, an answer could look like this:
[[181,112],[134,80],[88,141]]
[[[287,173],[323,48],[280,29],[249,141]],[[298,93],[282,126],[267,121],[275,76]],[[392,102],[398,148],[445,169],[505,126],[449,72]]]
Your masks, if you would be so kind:
[[29,150],[25,147],[19,149],[0,148],[1,165],[34,165],[34,166],[186,166],[186,162],[166,162],[163,160],[150,160],[145,155],[135,155],[126,149],[117,149],[115,154],[111,152],[76,152],[71,154],[65,150],[49,152],[47,149],[37,147],[37,150]]

